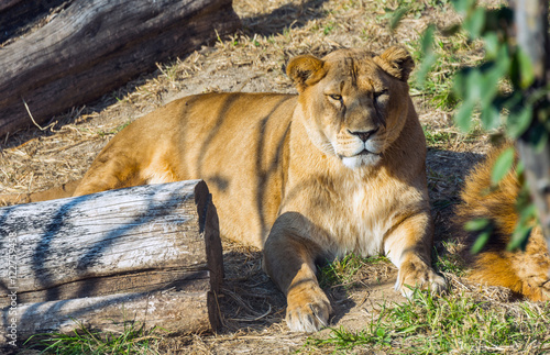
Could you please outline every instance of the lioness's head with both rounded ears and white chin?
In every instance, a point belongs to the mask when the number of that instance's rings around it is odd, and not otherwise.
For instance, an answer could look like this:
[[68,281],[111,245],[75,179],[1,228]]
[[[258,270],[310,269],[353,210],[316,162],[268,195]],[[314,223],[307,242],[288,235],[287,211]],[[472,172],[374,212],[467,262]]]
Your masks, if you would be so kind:
[[287,74],[298,89],[314,144],[349,168],[376,165],[405,124],[414,66],[408,52],[397,46],[380,56],[339,49],[322,59],[292,59]]

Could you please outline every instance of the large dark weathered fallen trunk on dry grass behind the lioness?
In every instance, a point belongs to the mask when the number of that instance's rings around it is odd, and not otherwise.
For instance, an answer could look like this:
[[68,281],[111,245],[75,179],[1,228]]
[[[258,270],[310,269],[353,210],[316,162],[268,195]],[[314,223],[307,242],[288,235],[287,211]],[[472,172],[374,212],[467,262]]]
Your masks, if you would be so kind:
[[239,24],[232,0],[75,1],[0,48],[0,136],[33,124],[26,107],[43,123]]

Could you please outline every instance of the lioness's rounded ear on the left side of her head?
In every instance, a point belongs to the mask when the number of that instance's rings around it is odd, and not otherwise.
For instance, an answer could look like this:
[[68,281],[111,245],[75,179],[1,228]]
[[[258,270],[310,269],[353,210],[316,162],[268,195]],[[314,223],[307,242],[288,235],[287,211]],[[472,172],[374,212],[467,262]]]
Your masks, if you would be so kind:
[[323,62],[312,55],[300,55],[288,63],[286,75],[294,81],[299,92],[316,84],[324,76]]

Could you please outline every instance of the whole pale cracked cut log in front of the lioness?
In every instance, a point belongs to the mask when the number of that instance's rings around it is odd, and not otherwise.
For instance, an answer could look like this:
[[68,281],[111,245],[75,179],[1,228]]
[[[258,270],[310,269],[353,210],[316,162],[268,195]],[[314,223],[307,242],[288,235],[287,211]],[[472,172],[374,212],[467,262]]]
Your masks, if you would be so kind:
[[2,208],[0,253],[6,342],[79,324],[174,333],[219,324],[221,242],[200,180]]

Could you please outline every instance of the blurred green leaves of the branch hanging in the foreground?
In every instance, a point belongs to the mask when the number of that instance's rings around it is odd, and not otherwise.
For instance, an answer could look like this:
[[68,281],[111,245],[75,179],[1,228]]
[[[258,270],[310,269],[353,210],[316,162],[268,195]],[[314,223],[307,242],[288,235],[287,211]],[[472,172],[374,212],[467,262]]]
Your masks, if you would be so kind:
[[[539,79],[531,57],[518,45],[517,35],[513,33],[516,20],[514,11],[507,7],[486,9],[477,5],[475,0],[454,0],[452,3],[463,21],[441,32],[444,35],[452,35],[458,31],[465,31],[469,41],[482,41],[484,47],[482,65],[464,67],[455,75],[453,91],[461,99],[454,115],[457,125],[464,132],[470,131],[473,124],[472,118],[474,113],[479,113],[484,130],[495,132],[499,129],[509,140],[526,142],[534,152],[548,149],[549,88],[546,82],[543,85],[537,82]],[[548,3],[546,7],[548,8]],[[419,82],[425,80],[438,59],[433,51],[435,32],[436,27],[430,25],[421,40],[425,59],[417,74]],[[512,148],[501,154],[493,167],[493,186],[497,186],[510,171],[515,159],[515,151]],[[518,171],[522,170],[519,164]],[[546,171],[547,175],[548,173],[550,171]],[[508,245],[509,249],[525,247],[532,226],[531,222],[537,217],[534,204],[526,198],[526,191],[524,189],[520,192],[517,201],[519,221]],[[548,206],[546,208],[548,210]],[[480,234],[481,237],[475,243],[475,251],[480,251],[488,240],[491,224],[486,220],[477,220],[469,223],[468,229]],[[548,234],[546,236],[549,237]]]

